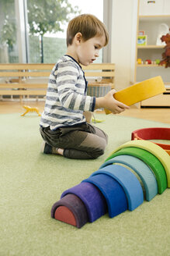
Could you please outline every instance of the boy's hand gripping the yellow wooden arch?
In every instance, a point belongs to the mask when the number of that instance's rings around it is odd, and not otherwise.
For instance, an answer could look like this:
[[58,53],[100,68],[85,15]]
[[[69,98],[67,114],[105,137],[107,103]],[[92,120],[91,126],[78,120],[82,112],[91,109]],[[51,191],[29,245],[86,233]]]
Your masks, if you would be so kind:
[[104,97],[96,98],[95,108],[106,108],[113,112],[113,114],[119,114],[120,112],[129,109],[129,106],[123,104],[120,101],[116,101],[116,99],[113,98],[115,93],[116,91],[113,89],[109,91],[108,94],[106,94]]

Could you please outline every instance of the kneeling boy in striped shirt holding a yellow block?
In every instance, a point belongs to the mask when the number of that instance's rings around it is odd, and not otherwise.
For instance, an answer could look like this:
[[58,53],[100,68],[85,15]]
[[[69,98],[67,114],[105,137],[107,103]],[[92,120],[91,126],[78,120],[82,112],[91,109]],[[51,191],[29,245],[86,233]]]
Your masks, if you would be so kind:
[[95,16],[83,14],[68,24],[67,54],[50,74],[40,120],[43,153],[75,159],[98,158],[104,153],[107,135],[86,122],[86,112],[107,108],[116,114],[129,107],[113,98],[115,90],[100,98],[87,96],[87,81],[80,64],[88,66],[95,61],[107,43],[106,27]]

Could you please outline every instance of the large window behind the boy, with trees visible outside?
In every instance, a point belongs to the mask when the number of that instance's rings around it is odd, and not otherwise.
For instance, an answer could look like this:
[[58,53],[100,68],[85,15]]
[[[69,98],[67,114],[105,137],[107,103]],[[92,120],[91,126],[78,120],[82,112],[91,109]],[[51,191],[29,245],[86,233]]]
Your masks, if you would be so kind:
[[103,0],[1,0],[0,62],[57,62],[66,52],[68,21],[80,13],[103,21]]

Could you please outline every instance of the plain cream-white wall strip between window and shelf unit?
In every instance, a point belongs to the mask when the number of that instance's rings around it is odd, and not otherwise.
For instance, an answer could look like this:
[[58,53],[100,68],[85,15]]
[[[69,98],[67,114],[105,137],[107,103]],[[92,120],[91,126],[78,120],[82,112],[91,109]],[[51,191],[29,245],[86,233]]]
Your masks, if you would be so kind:
[[137,34],[137,0],[113,0],[111,62],[116,64],[115,88],[133,82]]

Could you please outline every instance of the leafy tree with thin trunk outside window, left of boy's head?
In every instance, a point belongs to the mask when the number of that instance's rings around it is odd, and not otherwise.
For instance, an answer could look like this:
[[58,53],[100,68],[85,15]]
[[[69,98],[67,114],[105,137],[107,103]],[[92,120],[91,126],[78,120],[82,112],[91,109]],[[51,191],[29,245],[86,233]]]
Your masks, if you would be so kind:
[[62,25],[70,20],[70,15],[79,13],[78,7],[73,9],[68,0],[28,0],[27,5],[29,34],[41,37],[40,57],[44,62],[43,35],[63,31]]

